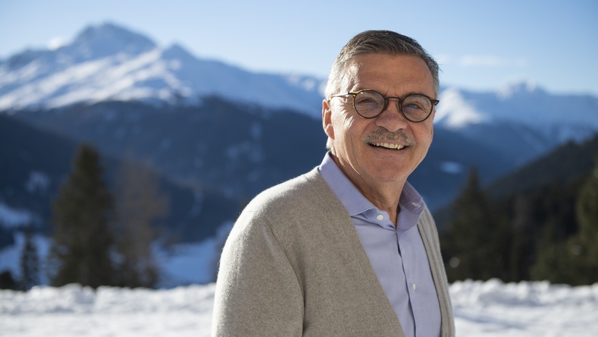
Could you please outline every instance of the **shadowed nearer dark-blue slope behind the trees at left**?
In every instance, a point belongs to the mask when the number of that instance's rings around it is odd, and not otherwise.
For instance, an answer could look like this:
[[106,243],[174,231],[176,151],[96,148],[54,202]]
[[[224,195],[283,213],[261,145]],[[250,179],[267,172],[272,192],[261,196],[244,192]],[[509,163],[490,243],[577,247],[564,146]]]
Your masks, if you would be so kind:
[[[0,249],[10,243],[12,232],[25,225],[51,233],[51,205],[66,176],[76,149],[82,142],[47,128],[0,114]],[[101,149],[104,179],[112,192],[123,157]],[[141,162],[141,161],[140,161]],[[141,165],[136,163],[135,165]],[[156,173],[160,195],[169,199],[169,212],[160,225],[164,238],[199,241],[209,238],[216,227],[232,221],[240,210],[240,200],[209,188],[190,188]],[[2,213],[2,212],[0,212]],[[21,214],[16,223],[6,221],[9,213]]]

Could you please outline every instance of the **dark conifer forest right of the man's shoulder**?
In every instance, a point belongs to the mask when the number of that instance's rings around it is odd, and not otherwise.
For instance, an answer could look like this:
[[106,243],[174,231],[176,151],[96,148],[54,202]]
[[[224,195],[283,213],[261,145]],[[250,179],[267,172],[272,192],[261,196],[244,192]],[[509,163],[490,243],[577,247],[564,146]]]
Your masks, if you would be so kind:
[[586,177],[493,199],[475,168],[440,233],[449,282],[598,282],[598,158]]

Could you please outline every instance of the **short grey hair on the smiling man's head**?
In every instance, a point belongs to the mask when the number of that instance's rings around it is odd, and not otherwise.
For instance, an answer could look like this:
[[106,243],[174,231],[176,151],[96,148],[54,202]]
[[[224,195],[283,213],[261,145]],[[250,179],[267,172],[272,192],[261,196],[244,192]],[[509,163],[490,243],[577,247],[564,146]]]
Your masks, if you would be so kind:
[[351,38],[334,60],[324,90],[325,99],[330,99],[332,95],[340,91],[342,81],[349,75],[347,74],[347,65],[356,56],[364,54],[413,55],[421,58],[432,73],[434,94],[438,96],[439,68],[432,55],[429,55],[416,40],[408,36],[388,30],[368,30]]

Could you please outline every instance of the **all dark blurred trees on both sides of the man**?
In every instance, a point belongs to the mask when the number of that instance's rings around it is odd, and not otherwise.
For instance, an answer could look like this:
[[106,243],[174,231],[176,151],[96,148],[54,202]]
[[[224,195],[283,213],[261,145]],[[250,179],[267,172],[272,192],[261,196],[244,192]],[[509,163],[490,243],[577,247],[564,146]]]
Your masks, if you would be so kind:
[[[123,160],[115,192],[105,184],[97,150],[79,147],[73,170],[53,202],[52,244],[45,270],[53,286],[153,287],[159,269],[152,224],[166,214],[167,199],[147,166]],[[499,278],[598,282],[598,158],[588,175],[560,180],[509,197],[490,197],[475,168],[440,229],[449,282]],[[19,284],[39,284],[41,261],[25,230]]]

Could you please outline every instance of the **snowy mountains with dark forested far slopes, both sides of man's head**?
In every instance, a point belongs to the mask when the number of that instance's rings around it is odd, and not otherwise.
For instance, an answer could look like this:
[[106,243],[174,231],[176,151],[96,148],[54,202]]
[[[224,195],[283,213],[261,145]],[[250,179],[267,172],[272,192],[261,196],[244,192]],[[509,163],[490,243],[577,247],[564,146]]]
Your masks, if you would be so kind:
[[[84,29],[70,45],[23,51],[0,62],[0,111],[77,140],[95,142],[117,155],[134,148],[131,151],[153,156],[161,170],[178,180],[197,183],[199,177],[202,185],[208,181],[231,193],[253,195],[262,184],[288,177],[290,171],[283,166],[295,171],[302,167],[291,167],[290,160],[276,157],[286,152],[273,151],[282,138],[266,143],[264,135],[277,134],[268,127],[286,127],[277,137],[290,139],[290,133],[297,137],[293,139],[297,144],[293,158],[312,158],[303,152],[314,151],[319,156],[323,151],[319,145],[323,132],[317,120],[324,84],[324,79],[316,77],[251,73],[201,60],[181,46],[162,48],[142,34],[106,23]],[[215,102],[213,96],[223,101]],[[531,82],[510,84],[494,92],[447,87],[442,88],[439,99],[427,167],[419,168],[414,179],[436,186],[429,195],[443,195],[438,199],[442,201],[453,193],[445,190],[459,186],[457,181],[463,181],[472,164],[488,182],[566,140],[584,140],[598,132],[598,97],[553,95]],[[136,103],[150,103],[155,109]],[[51,110],[55,113],[45,113]],[[169,114],[183,110],[192,114]],[[141,111],[155,115],[141,116]],[[297,130],[292,111],[307,114],[316,123],[301,120],[303,129]],[[214,112],[217,115],[211,116]],[[269,119],[272,114],[282,116],[273,121]],[[240,134],[231,129],[232,124],[221,125],[219,118],[224,116],[229,121],[246,121],[234,125]],[[197,133],[197,126],[190,128],[195,123],[204,130],[203,135]],[[219,140],[212,145],[219,133],[234,142]],[[213,134],[212,138],[205,136],[208,134]],[[310,138],[308,146],[306,138]],[[182,144],[177,152],[172,150],[175,144]],[[269,167],[278,171],[263,171]],[[440,182],[432,183],[429,177],[438,174]],[[445,175],[452,177],[449,184]]]

